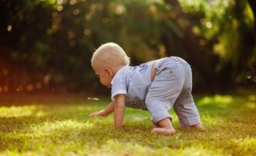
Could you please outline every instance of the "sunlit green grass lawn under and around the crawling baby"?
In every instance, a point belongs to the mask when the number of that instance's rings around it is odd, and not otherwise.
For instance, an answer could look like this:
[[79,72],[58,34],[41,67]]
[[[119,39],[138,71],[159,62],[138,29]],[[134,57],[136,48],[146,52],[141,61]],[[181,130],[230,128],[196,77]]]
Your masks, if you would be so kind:
[[87,96],[0,98],[0,155],[256,155],[254,94],[196,96],[203,130],[151,134],[148,111],[127,108],[124,128],[113,116],[88,118],[110,100]]

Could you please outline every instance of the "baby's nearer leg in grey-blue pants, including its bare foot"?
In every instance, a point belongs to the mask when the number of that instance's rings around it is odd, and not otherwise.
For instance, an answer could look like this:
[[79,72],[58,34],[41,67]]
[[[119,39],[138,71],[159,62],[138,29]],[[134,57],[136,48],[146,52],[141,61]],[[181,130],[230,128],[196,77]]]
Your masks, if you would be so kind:
[[165,59],[156,65],[156,75],[145,99],[146,108],[152,114],[151,121],[157,126],[151,133],[175,133],[168,112],[181,93],[184,79],[175,60]]

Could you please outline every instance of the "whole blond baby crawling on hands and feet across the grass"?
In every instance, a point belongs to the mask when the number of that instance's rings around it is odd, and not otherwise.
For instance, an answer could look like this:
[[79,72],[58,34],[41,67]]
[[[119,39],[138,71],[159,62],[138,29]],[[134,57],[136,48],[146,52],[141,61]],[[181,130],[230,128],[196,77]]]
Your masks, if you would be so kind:
[[198,110],[191,95],[192,73],[180,57],[165,57],[129,66],[129,57],[115,43],[101,45],[92,55],[92,68],[100,83],[111,88],[112,102],[91,118],[114,112],[114,127],[124,121],[125,106],[151,112],[155,128],[151,133],[175,133],[168,113],[173,107],[181,127],[202,128]]

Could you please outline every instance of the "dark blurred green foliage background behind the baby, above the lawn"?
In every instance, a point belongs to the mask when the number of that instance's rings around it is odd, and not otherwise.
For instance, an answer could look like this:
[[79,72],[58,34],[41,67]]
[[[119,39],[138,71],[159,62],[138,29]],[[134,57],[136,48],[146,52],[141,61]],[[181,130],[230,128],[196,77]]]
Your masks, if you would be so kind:
[[255,2],[0,0],[0,91],[103,91],[90,67],[102,43],[132,65],[177,55],[194,89],[256,84]]

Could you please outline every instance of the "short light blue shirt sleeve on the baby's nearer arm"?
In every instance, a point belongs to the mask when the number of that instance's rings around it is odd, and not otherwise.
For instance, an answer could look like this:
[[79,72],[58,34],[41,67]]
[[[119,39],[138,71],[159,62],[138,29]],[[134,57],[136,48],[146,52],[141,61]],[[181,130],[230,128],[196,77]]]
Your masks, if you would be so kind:
[[121,77],[120,74],[116,75],[117,77],[114,77],[114,81],[112,82],[112,89],[111,89],[112,101],[114,101],[114,96],[116,96],[117,94],[127,94],[127,87],[125,84],[124,77]]

